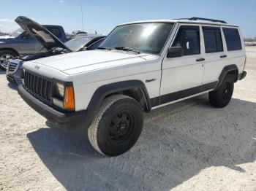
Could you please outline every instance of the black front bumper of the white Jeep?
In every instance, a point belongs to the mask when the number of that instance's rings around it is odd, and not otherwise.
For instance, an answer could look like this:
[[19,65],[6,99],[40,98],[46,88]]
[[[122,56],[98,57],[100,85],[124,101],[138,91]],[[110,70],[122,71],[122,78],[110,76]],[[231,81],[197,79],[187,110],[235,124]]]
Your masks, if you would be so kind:
[[89,121],[86,120],[87,114],[86,110],[81,112],[59,112],[56,109],[44,104],[42,101],[39,101],[33,95],[31,95],[23,85],[18,85],[18,93],[23,100],[31,106],[36,112],[41,114],[50,122],[53,122],[58,128],[64,130],[84,130],[88,128]]

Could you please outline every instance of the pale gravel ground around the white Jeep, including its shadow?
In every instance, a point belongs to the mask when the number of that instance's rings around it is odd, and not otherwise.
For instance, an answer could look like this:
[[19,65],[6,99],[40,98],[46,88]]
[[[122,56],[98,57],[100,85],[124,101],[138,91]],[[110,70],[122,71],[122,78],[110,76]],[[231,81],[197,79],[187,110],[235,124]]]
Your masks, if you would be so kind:
[[129,152],[102,157],[86,136],[27,106],[0,73],[0,190],[256,190],[256,47],[233,99],[207,95],[146,114]]

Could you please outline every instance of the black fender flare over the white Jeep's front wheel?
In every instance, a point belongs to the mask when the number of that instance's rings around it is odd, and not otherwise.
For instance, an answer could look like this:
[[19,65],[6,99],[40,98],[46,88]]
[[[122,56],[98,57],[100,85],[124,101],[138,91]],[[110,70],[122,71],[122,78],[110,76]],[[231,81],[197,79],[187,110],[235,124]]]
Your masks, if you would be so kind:
[[146,101],[146,112],[151,111],[151,102],[148,95],[148,90],[146,89],[146,85],[140,80],[127,80],[127,81],[121,81],[121,82],[114,82],[108,85],[102,85],[101,87],[98,87],[97,90],[94,92],[94,95],[91,97],[91,101],[89,102],[89,105],[87,106],[86,113],[87,113],[87,120],[89,125],[91,125],[91,122],[94,118],[94,115],[97,112],[97,109],[102,104],[102,101],[104,98],[110,94],[117,93],[124,90],[132,90],[138,88],[142,91],[143,97]]

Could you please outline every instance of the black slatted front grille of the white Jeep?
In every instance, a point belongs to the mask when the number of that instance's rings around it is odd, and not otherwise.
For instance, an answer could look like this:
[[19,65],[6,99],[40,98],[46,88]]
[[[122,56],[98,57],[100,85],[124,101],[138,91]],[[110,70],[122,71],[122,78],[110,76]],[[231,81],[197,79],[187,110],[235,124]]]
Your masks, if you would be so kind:
[[25,71],[24,84],[29,89],[29,92],[39,96],[45,101],[50,101],[50,92],[52,82],[44,77],[39,77],[29,71]]

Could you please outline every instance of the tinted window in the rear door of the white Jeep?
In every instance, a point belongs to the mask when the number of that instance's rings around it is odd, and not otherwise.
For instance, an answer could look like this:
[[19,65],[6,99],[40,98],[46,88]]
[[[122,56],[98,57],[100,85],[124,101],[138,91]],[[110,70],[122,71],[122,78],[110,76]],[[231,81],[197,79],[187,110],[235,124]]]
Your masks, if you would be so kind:
[[222,34],[220,28],[203,27],[203,39],[205,41],[206,53],[222,52]]

